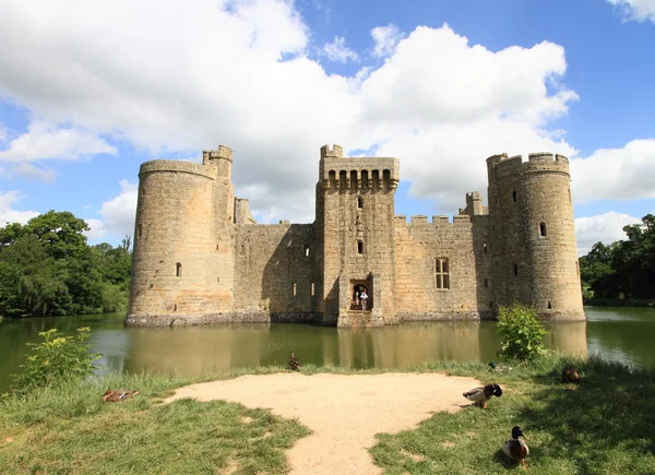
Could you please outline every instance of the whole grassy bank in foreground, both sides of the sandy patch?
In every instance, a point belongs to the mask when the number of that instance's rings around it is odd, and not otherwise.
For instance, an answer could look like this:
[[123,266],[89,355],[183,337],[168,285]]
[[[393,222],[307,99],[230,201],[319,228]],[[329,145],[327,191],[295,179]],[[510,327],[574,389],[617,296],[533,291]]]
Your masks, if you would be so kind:
[[[388,474],[521,471],[500,453],[513,425],[529,438],[536,474],[655,473],[655,373],[599,359],[575,361],[579,385],[561,383],[564,358],[547,357],[491,373],[478,363],[443,361],[408,371],[444,371],[498,382],[503,395],[483,411],[434,414],[414,430],[379,435],[370,450]],[[285,370],[267,367],[202,378]],[[317,372],[374,373],[303,367]],[[199,379],[193,379],[198,381]],[[114,376],[0,405],[0,466],[8,473],[285,473],[285,450],[310,431],[299,421],[225,402],[158,405],[186,378]],[[142,393],[100,402],[106,388]],[[462,399],[463,404],[468,402]],[[338,415],[335,415],[337,417]]]

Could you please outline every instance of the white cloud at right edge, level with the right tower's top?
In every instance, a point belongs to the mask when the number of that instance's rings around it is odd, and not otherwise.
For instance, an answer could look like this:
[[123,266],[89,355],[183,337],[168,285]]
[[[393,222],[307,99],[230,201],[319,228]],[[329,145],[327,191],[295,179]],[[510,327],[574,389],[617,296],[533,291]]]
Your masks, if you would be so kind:
[[655,139],[600,149],[570,165],[575,202],[655,198]]

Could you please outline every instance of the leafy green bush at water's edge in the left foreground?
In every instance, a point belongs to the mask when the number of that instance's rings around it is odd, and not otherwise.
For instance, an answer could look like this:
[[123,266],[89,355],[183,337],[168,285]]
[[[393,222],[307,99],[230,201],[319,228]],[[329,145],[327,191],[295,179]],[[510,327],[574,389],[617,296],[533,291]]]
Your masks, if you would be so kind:
[[41,343],[26,343],[33,348],[24,365],[23,372],[14,375],[14,390],[26,394],[35,389],[51,387],[72,379],[82,380],[97,368],[94,364],[102,355],[88,353],[91,344],[86,340],[91,329],[83,326],[72,336],[64,336],[57,329],[39,332]]

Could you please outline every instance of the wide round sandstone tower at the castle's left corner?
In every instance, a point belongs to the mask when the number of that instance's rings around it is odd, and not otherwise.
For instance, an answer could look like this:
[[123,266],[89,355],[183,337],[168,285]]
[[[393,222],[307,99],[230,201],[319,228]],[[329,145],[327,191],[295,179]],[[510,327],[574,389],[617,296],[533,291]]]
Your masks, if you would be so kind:
[[202,164],[141,165],[129,325],[166,325],[230,309],[234,266],[223,253],[233,253],[221,242],[234,212],[231,159],[231,150],[221,146],[204,152]]

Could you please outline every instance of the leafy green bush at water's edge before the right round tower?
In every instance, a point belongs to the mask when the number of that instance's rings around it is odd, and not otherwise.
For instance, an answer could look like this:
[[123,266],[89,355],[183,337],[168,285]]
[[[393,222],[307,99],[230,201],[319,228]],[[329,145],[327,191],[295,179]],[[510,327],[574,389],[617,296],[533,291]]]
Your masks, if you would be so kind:
[[546,329],[534,308],[521,304],[500,307],[498,333],[502,337],[498,354],[521,361],[544,353],[543,337]]

